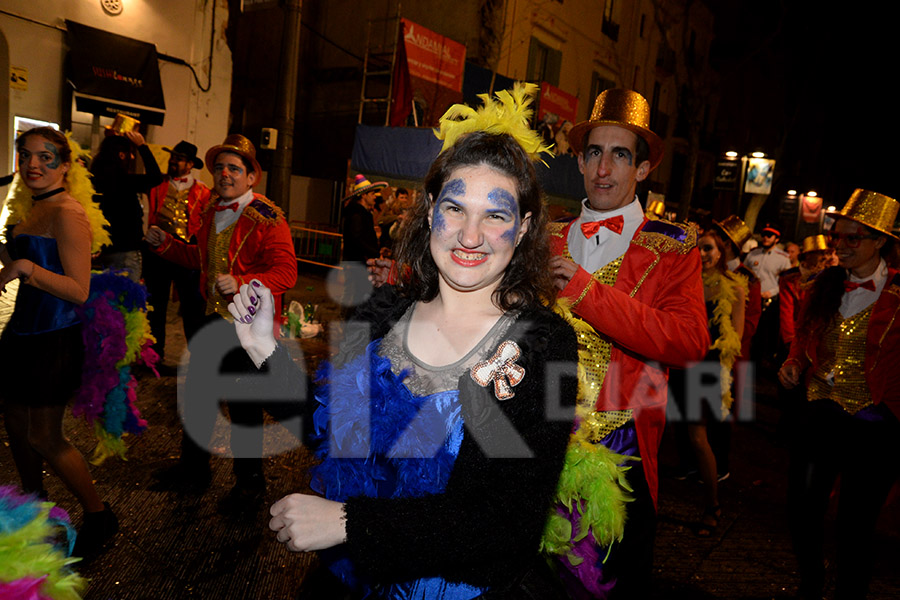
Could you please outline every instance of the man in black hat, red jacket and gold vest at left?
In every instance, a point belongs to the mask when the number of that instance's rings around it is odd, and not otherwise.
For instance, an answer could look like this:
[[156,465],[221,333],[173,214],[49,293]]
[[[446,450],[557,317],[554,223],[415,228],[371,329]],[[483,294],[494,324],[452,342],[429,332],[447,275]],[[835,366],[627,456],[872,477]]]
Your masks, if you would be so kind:
[[[202,169],[197,146],[180,141],[169,153],[166,179],[150,190],[148,225],[156,226],[191,243],[200,228],[200,212],[209,201],[210,191],[191,171]],[[156,339],[153,348],[160,361],[166,351],[166,312],[172,284],[181,304],[184,335],[190,340],[203,319],[203,297],[200,295],[200,271],[168,261],[151,250],[144,251],[144,283],[150,296],[150,331]]]

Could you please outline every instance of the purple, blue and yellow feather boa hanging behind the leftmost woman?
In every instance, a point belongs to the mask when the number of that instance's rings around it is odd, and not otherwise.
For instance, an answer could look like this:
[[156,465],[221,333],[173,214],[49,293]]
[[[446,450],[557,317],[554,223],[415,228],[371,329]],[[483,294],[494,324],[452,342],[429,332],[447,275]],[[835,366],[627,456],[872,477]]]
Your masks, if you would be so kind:
[[98,444],[91,462],[98,465],[110,456],[124,459],[123,437],[147,429],[135,405],[131,365],[139,361],[156,372],[159,356],[151,347],[156,340],[147,320],[147,288],[125,271],[92,273],[91,293],[78,311],[85,353],[72,413],[94,426]]

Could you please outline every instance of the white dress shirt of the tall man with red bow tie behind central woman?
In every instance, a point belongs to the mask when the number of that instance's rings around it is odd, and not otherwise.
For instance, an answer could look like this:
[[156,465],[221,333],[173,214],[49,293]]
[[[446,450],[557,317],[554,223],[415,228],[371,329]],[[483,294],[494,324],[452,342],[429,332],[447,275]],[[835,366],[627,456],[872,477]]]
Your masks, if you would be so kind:
[[[624,219],[622,233],[615,233],[606,227],[601,227],[591,239],[584,237],[584,233],[581,231],[582,223],[592,223],[619,215]],[[593,273],[625,254],[631,238],[634,237],[643,222],[644,209],[641,208],[637,196],[622,208],[603,212],[591,208],[585,198],[581,201],[581,214],[572,223],[566,238],[569,244],[569,253],[585,271]]]

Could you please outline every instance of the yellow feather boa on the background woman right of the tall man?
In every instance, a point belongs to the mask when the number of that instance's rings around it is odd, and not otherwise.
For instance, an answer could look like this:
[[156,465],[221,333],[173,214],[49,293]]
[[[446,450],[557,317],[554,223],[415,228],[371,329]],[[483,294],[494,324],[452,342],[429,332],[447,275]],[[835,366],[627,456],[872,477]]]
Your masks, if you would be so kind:
[[731,395],[732,368],[734,361],[741,354],[741,336],[738,335],[732,321],[734,303],[737,302],[738,287],[744,289],[744,297],[747,294],[747,278],[739,273],[722,273],[712,271],[703,273],[703,285],[715,289],[715,295],[710,298],[715,302],[713,316],[710,319],[719,329],[718,339],[713,341],[710,350],[719,351],[719,379],[722,385],[722,418],[731,412],[734,398]]

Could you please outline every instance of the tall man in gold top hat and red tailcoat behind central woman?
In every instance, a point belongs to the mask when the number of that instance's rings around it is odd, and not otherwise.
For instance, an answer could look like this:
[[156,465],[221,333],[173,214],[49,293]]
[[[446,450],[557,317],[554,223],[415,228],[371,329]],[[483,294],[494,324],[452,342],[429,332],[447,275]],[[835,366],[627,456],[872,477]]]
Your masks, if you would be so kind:
[[[612,89],[597,97],[590,119],[569,132],[587,197],[577,219],[550,231],[560,297],[590,330],[580,339],[589,385],[576,435],[598,452],[603,446],[641,459],[629,463],[634,501],[606,562],[605,549],[589,547],[576,547],[581,566],[561,558],[574,597],[605,597],[610,588],[612,598],[648,597],[656,458],[666,420],[662,365],[701,360],[710,344],[696,232],[648,219],[635,195],[663,157],[649,123],[649,105],[637,92]],[[578,520],[571,507],[559,508]]]

